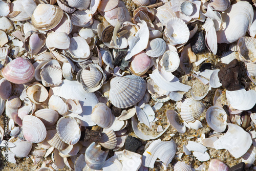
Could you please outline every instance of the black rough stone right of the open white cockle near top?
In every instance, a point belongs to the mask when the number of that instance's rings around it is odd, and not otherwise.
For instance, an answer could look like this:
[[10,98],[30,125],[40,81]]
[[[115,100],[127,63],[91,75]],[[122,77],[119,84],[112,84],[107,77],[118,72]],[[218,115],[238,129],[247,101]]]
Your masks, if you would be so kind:
[[205,42],[203,31],[197,32],[190,41],[191,50],[197,54],[205,50]]

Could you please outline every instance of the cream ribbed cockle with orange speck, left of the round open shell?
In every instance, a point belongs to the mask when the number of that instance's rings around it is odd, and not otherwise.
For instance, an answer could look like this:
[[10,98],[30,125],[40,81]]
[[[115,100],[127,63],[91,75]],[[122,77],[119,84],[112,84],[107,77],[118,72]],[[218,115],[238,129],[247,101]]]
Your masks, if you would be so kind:
[[194,122],[203,113],[205,105],[193,98],[186,98],[181,104],[181,118],[185,122]]

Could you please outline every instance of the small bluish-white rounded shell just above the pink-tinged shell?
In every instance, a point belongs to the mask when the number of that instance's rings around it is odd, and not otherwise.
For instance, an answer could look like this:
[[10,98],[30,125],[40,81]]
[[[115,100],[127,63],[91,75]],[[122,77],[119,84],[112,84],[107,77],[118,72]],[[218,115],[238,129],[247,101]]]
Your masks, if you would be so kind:
[[164,54],[166,43],[162,38],[154,38],[150,40],[146,48],[146,54],[151,57],[158,57]]

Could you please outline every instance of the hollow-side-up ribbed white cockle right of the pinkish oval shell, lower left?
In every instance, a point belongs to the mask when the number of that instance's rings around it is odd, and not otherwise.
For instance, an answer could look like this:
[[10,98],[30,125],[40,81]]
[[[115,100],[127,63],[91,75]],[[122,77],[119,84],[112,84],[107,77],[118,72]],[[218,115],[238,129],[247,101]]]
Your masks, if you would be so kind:
[[81,131],[75,119],[70,117],[61,117],[56,127],[59,138],[67,144],[76,144],[81,136]]

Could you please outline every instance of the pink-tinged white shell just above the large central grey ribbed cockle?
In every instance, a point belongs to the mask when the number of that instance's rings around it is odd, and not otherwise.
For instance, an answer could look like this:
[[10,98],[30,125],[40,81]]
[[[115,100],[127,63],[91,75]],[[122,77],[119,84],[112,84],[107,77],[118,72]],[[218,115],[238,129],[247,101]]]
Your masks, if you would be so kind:
[[151,67],[151,57],[147,56],[144,51],[134,55],[132,58],[130,69],[133,74],[141,76]]

